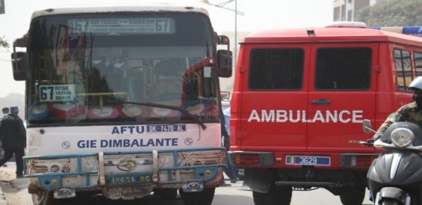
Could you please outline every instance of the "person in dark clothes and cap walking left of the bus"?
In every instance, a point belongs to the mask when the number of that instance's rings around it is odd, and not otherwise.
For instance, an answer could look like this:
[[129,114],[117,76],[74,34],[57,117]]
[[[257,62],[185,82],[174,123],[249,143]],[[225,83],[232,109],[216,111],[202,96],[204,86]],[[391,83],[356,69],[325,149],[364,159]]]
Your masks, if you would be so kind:
[[0,140],[1,147],[4,149],[4,156],[0,160],[0,166],[3,166],[13,154],[16,158],[16,176],[23,177],[23,155],[26,147],[26,129],[23,121],[18,116],[19,108],[10,107],[10,114],[1,120]]

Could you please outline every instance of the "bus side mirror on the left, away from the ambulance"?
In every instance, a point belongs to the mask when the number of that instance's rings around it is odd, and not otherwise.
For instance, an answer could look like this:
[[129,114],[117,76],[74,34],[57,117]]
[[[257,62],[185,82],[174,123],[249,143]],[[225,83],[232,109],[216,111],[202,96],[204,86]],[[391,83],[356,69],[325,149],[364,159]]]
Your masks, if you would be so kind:
[[29,65],[26,52],[12,53],[12,72],[14,80],[26,80],[28,78]]

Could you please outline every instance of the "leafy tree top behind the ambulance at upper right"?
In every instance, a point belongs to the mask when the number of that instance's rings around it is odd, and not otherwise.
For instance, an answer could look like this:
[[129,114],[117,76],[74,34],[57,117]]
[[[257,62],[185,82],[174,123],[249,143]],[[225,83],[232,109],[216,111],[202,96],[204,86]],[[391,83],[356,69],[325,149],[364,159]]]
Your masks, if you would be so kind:
[[354,19],[368,26],[422,25],[422,0],[381,1],[357,11]]

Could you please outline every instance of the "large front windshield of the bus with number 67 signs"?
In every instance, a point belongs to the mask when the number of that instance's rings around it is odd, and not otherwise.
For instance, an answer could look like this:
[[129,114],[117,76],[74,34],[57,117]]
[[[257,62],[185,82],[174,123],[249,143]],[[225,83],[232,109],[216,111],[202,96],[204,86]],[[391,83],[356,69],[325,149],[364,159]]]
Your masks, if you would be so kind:
[[219,118],[216,42],[203,14],[38,17],[28,36],[28,125]]

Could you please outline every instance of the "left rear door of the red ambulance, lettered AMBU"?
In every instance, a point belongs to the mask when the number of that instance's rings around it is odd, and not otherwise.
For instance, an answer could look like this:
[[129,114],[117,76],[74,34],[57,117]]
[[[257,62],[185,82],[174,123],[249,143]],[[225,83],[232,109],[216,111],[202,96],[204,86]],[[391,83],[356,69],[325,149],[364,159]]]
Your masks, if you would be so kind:
[[245,46],[241,150],[305,151],[310,44]]

